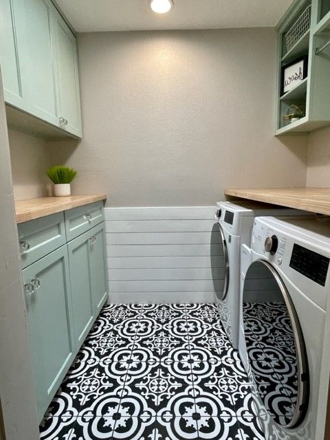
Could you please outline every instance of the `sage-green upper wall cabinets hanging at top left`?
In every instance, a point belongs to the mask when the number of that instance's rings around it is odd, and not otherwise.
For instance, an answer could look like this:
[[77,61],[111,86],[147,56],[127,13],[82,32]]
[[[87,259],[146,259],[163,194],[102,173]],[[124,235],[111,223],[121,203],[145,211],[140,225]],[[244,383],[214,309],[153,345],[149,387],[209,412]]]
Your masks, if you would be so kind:
[[82,137],[76,36],[51,0],[0,0],[0,61],[7,104]]

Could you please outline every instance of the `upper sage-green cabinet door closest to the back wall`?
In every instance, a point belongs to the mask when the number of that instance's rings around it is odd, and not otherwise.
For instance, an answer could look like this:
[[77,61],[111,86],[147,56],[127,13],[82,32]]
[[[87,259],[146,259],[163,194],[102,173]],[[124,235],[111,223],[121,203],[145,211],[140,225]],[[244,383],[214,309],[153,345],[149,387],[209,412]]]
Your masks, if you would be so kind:
[[57,63],[58,104],[62,128],[80,136],[80,92],[76,37],[62,17],[54,12],[54,39]]

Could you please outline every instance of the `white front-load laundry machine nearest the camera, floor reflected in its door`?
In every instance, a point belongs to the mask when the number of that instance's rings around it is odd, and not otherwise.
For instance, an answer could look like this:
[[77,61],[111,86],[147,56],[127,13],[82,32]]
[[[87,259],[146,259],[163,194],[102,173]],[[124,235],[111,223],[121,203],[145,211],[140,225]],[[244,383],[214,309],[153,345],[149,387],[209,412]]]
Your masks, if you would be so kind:
[[324,439],[329,262],[330,219],[254,219],[242,252],[239,349],[266,439]]

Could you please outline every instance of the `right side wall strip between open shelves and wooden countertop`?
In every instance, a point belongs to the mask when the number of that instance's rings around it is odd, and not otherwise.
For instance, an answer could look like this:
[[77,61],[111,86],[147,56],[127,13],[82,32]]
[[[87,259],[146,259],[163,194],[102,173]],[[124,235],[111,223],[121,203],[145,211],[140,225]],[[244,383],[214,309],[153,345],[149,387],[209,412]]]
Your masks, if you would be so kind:
[[330,129],[309,135],[307,186],[330,186]]

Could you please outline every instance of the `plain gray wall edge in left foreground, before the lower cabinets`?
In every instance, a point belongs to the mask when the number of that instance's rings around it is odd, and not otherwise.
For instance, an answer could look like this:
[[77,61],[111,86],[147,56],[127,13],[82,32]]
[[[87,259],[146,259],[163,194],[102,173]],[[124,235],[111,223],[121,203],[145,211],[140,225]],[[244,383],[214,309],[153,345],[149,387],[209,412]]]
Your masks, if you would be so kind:
[[0,79],[0,399],[7,440],[39,439]]

